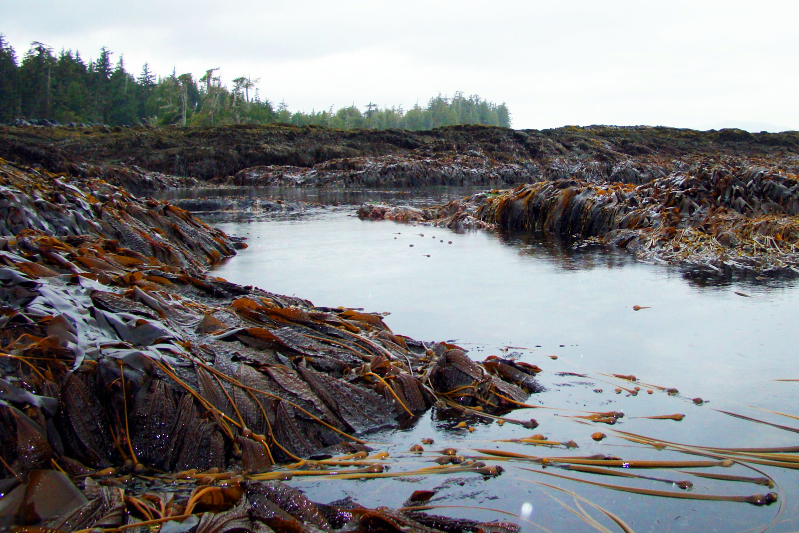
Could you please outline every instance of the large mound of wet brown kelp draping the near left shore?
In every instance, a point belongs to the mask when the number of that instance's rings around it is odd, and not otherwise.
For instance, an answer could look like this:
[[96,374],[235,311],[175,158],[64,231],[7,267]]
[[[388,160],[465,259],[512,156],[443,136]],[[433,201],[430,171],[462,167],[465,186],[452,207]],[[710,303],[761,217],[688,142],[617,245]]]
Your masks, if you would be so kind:
[[277,465],[347,452],[378,473],[356,435],[433,404],[535,427],[503,416],[535,368],[212,276],[241,243],[182,209],[5,161],[0,196],[2,527],[413,529],[316,506]]

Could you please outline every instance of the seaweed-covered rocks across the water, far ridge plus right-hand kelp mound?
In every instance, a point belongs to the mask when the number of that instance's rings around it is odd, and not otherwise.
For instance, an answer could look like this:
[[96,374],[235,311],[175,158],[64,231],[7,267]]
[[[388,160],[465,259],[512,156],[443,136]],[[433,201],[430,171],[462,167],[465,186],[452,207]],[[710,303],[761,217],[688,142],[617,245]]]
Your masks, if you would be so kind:
[[[566,126],[429,132],[238,125],[205,129],[3,127],[0,157],[147,190],[486,186],[434,209],[372,209],[457,231],[547,232],[644,261],[797,269],[799,133]],[[523,185],[523,189],[518,189]],[[508,189],[508,188],[511,189]],[[513,189],[516,188],[516,189]],[[507,189],[507,190],[506,190]],[[197,213],[301,213],[302,202],[186,199]],[[366,208],[364,208],[366,209]],[[379,213],[382,211],[383,214]]]

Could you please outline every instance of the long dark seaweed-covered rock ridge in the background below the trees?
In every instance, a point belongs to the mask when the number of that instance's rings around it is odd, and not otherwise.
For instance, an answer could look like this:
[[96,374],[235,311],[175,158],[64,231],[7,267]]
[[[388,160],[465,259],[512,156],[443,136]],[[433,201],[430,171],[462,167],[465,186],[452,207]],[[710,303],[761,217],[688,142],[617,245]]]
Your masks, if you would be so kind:
[[799,172],[799,133],[734,129],[596,125],[537,131],[464,125],[409,132],[232,125],[102,132],[4,127],[0,137],[0,157],[54,172],[85,175],[81,165],[124,164],[163,176],[246,186],[518,185],[570,177],[639,185],[709,157],[739,157],[747,165],[766,160],[783,165],[785,172]]

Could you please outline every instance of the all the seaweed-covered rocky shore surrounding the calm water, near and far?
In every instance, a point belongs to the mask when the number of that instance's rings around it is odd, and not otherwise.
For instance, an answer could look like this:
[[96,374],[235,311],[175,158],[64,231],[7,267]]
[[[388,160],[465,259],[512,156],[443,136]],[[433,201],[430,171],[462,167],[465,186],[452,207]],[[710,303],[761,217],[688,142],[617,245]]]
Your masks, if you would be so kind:
[[[316,504],[281,480],[300,467],[380,473],[359,436],[430,408],[535,428],[507,414],[540,390],[538,368],[478,363],[377,313],[213,276],[245,244],[179,207],[297,213],[304,202],[145,191],[512,185],[358,214],[543,231],[713,268],[799,267],[797,133],[24,126],[0,138],[0,527],[515,531]],[[454,450],[442,458],[501,473]]]

